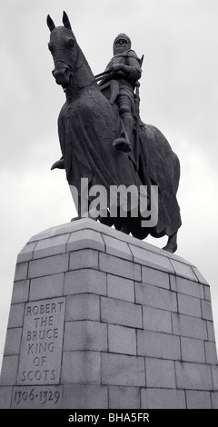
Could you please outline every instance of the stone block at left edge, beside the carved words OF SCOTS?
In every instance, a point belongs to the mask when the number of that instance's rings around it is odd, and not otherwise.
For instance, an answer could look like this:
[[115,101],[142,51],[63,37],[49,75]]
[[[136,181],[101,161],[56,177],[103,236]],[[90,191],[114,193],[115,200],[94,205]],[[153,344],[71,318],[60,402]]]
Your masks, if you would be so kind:
[[0,385],[15,385],[18,361],[18,355],[3,357]]

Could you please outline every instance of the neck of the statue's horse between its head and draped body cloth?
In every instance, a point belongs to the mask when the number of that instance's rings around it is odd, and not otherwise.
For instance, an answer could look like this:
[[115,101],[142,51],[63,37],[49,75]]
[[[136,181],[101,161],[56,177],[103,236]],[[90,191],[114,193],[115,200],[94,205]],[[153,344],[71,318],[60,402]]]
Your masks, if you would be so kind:
[[81,90],[86,87],[94,86],[99,90],[98,85],[94,80],[94,74],[78,45],[77,49],[77,61],[73,71],[72,84],[65,90],[66,99],[70,99],[72,96],[74,97],[75,95],[80,94]]

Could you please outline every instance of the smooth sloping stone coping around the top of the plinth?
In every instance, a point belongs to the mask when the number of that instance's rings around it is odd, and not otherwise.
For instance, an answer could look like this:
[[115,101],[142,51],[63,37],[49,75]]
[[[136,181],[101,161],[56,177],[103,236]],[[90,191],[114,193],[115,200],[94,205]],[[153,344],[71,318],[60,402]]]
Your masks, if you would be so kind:
[[54,225],[35,234],[18,254],[17,263],[25,264],[41,257],[70,253],[85,248],[208,285],[193,263],[184,260],[181,256],[168,253],[151,243],[136,239],[89,218]]

